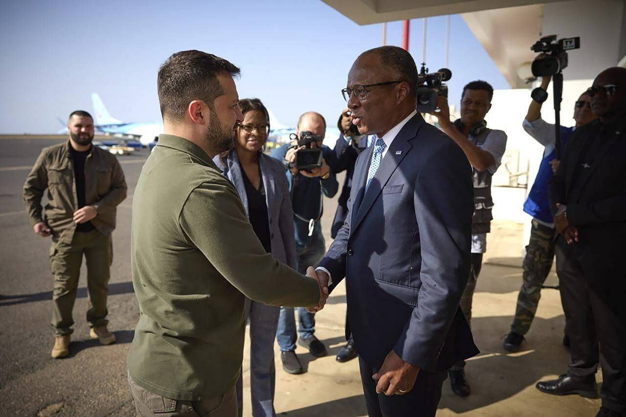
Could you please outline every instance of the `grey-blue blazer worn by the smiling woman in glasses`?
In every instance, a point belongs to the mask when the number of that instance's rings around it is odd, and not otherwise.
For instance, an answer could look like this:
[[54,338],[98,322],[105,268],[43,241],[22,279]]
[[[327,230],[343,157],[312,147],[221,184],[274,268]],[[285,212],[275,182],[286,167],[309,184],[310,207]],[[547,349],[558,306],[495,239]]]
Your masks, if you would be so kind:
[[[245,215],[248,212],[248,197],[245,193],[244,175],[237,152],[231,150],[227,156],[221,158],[217,155],[213,158],[223,174],[235,185],[237,193],[244,203]],[[270,240],[272,244],[272,256],[297,270],[297,258],[295,255],[294,235],[294,212],[291,208],[289,185],[285,176],[285,167],[272,157],[260,153],[259,165],[263,186],[265,187],[265,203],[269,215]]]

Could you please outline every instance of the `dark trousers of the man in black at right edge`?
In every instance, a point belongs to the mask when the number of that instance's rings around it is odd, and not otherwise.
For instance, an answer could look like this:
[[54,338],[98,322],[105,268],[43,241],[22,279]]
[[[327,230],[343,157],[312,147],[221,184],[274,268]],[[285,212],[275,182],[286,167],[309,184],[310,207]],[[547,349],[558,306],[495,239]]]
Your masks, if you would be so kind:
[[572,252],[557,245],[557,274],[570,337],[570,374],[578,379],[593,376],[599,357],[603,378],[602,405],[615,411],[626,411],[626,301],[623,299],[626,274],[623,261],[606,259],[605,262],[583,263],[578,262]]

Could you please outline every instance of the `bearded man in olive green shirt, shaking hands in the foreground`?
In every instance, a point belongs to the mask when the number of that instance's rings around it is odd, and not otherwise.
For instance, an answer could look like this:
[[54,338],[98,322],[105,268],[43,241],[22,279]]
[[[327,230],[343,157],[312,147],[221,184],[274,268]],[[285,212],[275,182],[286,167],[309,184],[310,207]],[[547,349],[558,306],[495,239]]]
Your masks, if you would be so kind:
[[212,162],[243,119],[237,74],[200,51],[173,54],[158,73],[165,134],[141,171],[131,232],[141,314],[127,364],[141,415],[236,416],[245,296],[311,309],[326,302],[327,282],[265,253]]

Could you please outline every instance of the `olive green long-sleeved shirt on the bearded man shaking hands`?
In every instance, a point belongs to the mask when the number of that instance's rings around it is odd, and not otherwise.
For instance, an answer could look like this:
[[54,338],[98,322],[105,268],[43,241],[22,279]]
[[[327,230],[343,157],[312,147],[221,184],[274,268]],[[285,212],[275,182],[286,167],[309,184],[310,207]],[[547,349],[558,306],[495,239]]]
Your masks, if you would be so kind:
[[133,196],[131,268],[140,318],[136,384],[172,399],[222,395],[239,378],[244,301],[310,307],[317,281],[267,254],[232,183],[194,143],[160,135]]

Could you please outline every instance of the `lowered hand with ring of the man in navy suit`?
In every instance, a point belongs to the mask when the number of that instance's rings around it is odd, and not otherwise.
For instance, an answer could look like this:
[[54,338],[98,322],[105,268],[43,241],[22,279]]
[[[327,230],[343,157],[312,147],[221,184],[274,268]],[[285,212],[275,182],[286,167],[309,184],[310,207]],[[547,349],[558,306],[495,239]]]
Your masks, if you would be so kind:
[[403,395],[411,391],[418,378],[419,368],[404,362],[393,350],[387,354],[381,369],[372,375],[376,379],[376,393]]

